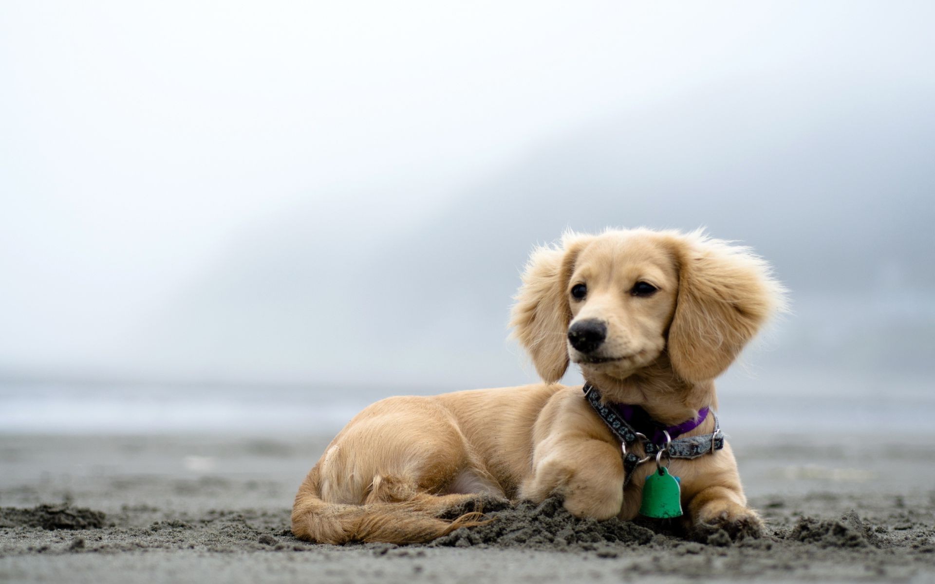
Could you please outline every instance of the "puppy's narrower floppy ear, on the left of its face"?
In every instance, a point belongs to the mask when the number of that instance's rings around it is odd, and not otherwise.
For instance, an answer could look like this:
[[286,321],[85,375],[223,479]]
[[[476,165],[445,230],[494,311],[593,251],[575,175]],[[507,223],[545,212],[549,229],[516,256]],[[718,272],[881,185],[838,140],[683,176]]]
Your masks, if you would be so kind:
[[513,296],[513,336],[529,353],[546,383],[561,379],[568,369],[568,279],[575,259],[592,238],[569,232],[558,246],[533,249],[525,265],[523,285]]

